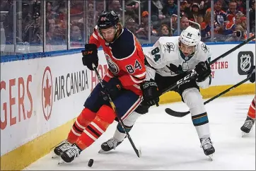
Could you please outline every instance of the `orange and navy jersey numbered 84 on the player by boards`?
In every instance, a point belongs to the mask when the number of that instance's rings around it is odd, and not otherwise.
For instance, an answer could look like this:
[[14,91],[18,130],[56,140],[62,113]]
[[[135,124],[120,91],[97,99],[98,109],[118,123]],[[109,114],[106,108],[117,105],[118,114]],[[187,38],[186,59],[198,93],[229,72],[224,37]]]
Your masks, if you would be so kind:
[[108,71],[104,77],[105,81],[108,82],[110,78],[116,76],[120,79],[124,89],[142,95],[139,85],[146,78],[144,53],[132,32],[123,28],[117,39],[107,44],[98,33],[96,26],[89,43],[93,43],[97,47],[103,47],[108,64]]

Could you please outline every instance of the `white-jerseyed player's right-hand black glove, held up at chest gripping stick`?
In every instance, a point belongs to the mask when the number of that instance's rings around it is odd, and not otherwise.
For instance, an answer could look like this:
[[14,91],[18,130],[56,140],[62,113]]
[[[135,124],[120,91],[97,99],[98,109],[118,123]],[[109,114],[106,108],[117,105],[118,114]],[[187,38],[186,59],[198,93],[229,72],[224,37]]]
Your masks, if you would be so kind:
[[197,72],[197,82],[205,81],[211,75],[211,67],[207,61],[200,61],[194,70]]

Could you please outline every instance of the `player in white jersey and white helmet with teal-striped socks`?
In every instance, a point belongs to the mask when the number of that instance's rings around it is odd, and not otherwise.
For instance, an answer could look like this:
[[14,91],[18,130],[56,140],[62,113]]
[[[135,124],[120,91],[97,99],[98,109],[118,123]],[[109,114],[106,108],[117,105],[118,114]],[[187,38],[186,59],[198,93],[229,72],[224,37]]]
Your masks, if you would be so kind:
[[[182,101],[190,108],[192,122],[197,130],[201,147],[205,155],[211,158],[215,152],[209,131],[209,120],[204,107],[204,100],[199,88],[208,88],[211,84],[211,68],[208,62],[211,59],[209,47],[201,42],[199,30],[191,26],[183,30],[180,37],[160,37],[146,57],[146,80],[148,87],[144,90],[144,101],[130,116],[124,120],[127,129],[132,129],[136,119],[141,114],[146,114],[151,105],[159,101],[161,90],[173,85],[194,69],[196,78],[182,83],[175,88]],[[145,84],[144,84],[145,85]],[[101,145],[99,153],[115,149],[125,138],[122,126],[117,125],[113,138]]]

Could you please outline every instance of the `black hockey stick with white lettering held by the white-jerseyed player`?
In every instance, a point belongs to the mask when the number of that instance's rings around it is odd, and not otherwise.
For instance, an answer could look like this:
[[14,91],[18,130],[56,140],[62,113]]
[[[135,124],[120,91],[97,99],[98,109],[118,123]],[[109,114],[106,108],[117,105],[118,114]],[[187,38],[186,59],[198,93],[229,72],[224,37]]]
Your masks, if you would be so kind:
[[[234,52],[236,49],[242,47],[243,45],[248,44],[248,42],[252,41],[253,39],[255,39],[255,35],[253,35],[252,37],[248,38],[248,40],[245,40],[243,42],[241,42],[239,45],[233,47],[232,49],[228,50],[228,52],[225,52],[223,54],[221,54],[221,56],[217,57],[216,59],[212,60],[209,62],[209,65],[214,64],[216,61],[219,61],[219,59],[228,56],[228,54],[231,54],[232,52]],[[194,69],[192,69],[192,71],[189,71],[187,76],[185,76],[184,78],[180,79],[179,81],[177,81],[176,83],[174,83],[171,86],[168,86],[168,88],[165,88],[161,91],[161,94],[166,93],[170,90],[173,90],[173,88],[176,88],[177,86],[179,86],[182,83],[185,83],[185,81],[190,80],[192,77],[196,76],[197,72],[194,71]]]

